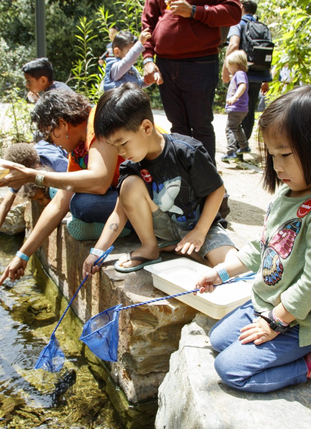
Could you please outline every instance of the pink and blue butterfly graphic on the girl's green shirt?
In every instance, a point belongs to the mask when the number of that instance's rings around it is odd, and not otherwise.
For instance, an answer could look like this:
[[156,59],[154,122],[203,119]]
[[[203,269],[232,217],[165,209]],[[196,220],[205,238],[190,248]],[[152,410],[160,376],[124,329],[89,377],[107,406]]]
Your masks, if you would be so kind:
[[275,285],[282,278],[283,264],[281,259],[287,259],[292,253],[294,240],[297,237],[302,220],[295,218],[284,222],[272,237],[267,235],[267,220],[272,208],[270,203],[265,217],[264,227],[260,240],[260,252],[262,255],[262,278],[268,285]]

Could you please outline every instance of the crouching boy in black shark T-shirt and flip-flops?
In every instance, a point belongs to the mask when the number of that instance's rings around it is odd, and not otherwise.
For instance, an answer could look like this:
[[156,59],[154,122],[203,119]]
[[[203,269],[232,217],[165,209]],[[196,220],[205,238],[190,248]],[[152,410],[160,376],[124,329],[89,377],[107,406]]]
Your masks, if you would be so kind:
[[188,136],[160,134],[142,89],[124,84],[104,93],[94,131],[126,161],[120,167],[116,207],[84,263],[84,273],[98,270],[92,269],[95,256],[114,242],[127,219],[141,247],[115,264],[118,271],[159,262],[156,237],[169,241],[163,249],[175,249],[211,266],[237,252],[218,213],[223,181],[206,149]]

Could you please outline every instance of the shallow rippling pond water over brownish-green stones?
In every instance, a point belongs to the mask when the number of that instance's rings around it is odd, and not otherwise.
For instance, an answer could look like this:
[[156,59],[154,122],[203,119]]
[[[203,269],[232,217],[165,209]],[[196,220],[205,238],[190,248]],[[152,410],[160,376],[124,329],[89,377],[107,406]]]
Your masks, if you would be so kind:
[[[1,273],[21,241],[0,235]],[[67,305],[58,297],[57,309],[52,308],[50,295],[57,294],[56,286],[43,283],[27,271],[14,285],[6,280],[0,286],[0,428],[123,428],[104,382],[81,353],[76,330],[82,327],[69,312],[56,331],[66,356],[63,368],[54,374],[33,369]]]

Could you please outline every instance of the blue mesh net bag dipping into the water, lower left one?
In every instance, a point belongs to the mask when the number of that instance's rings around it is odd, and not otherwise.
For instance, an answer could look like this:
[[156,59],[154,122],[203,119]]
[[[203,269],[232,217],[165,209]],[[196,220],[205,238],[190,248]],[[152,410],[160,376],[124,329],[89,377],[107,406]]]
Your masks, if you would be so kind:
[[38,360],[35,362],[35,369],[42,368],[46,371],[58,372],[62,368],[64,362],[65,355],[55,335],[52,335],[48,345],[44,347]]

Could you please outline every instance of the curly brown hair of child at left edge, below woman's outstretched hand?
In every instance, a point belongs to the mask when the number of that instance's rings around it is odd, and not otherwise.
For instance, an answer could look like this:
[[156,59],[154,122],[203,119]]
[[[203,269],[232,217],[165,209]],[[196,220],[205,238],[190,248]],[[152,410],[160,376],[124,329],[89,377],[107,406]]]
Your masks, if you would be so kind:
[[27,168],[35,168],[40,162],[39,155],[32,143],[11,144],[6,148],[3,158]]

